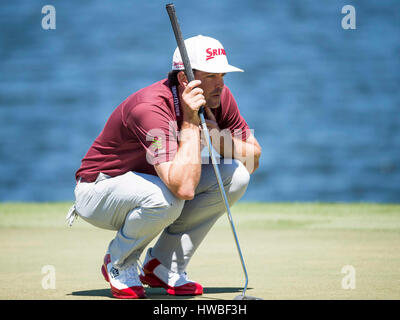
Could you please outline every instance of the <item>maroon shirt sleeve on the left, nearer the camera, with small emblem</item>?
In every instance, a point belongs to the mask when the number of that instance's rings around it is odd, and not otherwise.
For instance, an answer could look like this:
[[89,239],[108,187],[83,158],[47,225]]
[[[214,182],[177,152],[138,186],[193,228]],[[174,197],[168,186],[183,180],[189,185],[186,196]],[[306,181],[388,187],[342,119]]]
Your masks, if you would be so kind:
[[151,165],[172,161],[178,150],[177,123],[166,108],[140,103],[126,115],[127,128],[146,150]]

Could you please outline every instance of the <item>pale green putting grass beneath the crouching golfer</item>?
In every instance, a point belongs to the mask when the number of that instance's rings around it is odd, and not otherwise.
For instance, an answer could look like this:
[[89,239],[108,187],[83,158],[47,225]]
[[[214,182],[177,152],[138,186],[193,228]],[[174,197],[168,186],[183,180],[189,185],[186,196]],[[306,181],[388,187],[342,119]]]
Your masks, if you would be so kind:
[[[71,203],[0,204],[0,299],[112,299],[100,273],[114,232],[82,219],[65,223]],[[400,205],[239,203],[232,208],[249,273],[248,294],[263,299],[400,299]],[[142,257],[143,258],[143,257]],[[43,289],[54,266],[56,289]],[[345,290],[342,267],[356,271]],[[201,297],[232,299],[244,277],[226,216],[188,268]],[[171,299],[147,289],[150,299]]]

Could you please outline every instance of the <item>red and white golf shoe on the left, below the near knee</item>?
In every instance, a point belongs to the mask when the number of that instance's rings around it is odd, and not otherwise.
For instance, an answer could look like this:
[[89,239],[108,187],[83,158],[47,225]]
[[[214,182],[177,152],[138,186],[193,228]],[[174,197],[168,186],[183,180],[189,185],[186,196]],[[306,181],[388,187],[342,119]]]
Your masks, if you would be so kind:
[[112,265],[109,254],[104,257],[101,266],[101,273],[104,279],[110,283],[111,293],[119,299],[141,299],[146,294],[137,273],[137,265],[132,264],[124,268],[117,268]]

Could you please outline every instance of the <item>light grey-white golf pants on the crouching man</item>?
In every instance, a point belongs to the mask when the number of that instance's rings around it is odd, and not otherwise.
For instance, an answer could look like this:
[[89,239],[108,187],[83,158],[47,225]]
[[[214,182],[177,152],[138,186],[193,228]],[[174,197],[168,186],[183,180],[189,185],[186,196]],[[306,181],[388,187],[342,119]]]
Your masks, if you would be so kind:
[[[225,192],[232,205],[246,191],[250,175],[240,161],[219,164]],[[225,212],[212,164],[203,164],[192,200],[176,198],[158,176],[127,172],[109,177],[102,173],[93,183],[75,188],[77,214],[90,224],[116,230],[108,246],[117,266],[137,260],[160,233],[152,249],[164,266],[186,269],[200,243]]]

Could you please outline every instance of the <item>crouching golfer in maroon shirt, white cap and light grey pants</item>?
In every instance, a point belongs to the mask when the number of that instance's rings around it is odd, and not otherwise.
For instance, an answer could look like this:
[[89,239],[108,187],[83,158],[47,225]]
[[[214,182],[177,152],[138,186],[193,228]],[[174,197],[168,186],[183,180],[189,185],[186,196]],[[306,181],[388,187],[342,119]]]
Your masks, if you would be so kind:
[[[230,90],[221,43],[185,40],[195,79],[187,81],[178,48],[168,79],[133,93],[111,114],[76,172],[76,215],[115,230],[101,271],[117,298],[145,298],[143,284],[171,295],[200,295],[202,286],[186,268],[196,249],[225,212],[211,163],[203,161],[198,110],[205,106],[212,143],[230,205],[246,191],[261,148]],[[143,266],[139,257],[147,250]]]

